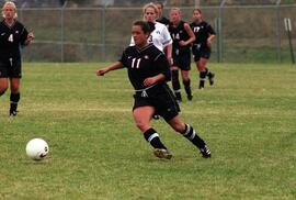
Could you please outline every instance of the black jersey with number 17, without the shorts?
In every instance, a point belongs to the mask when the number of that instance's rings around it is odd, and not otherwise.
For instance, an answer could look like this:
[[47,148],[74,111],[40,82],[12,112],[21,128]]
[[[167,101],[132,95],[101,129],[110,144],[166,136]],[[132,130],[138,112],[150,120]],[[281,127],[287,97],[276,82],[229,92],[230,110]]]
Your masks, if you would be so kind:
[[202,48],[207,46],[207,37],[209,35],[216,35],[213,27],[205,21],[202,21],[201,23],[192,22],[190,26],[196,37],[193,43]]

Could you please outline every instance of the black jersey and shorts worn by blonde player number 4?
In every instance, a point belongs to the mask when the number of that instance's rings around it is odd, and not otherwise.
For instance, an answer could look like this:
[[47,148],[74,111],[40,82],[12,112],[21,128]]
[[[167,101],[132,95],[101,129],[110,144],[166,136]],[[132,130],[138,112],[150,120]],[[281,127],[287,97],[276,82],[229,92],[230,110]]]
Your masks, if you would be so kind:
[[21,47],[27,37],[27,31],[22,23],[15,21],[9,26],[0,23],[0,77],[21,78]]

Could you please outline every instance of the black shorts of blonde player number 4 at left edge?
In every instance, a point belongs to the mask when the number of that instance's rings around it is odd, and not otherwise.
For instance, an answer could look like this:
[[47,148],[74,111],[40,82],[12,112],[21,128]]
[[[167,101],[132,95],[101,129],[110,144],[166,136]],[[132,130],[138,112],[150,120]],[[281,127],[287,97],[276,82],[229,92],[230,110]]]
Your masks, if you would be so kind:
[[0,78],[21,78],[21,59],[5,58],[0,59]]

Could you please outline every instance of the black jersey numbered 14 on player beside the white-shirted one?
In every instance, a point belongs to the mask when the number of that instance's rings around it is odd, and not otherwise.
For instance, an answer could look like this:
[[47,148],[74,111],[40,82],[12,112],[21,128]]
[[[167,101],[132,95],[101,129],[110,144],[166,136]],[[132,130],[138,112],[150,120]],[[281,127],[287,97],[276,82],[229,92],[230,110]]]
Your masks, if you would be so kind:
[[173,53],[180,54],[184,52],[190,52],[190,44],[186,46],[180,46],[180,41],[187,41],[190,35],[187,34],[186,30],[184,29],[184,21],[180,21],[180,23],[175,26],[172,23],[169,24],[169,32],[173,40]]

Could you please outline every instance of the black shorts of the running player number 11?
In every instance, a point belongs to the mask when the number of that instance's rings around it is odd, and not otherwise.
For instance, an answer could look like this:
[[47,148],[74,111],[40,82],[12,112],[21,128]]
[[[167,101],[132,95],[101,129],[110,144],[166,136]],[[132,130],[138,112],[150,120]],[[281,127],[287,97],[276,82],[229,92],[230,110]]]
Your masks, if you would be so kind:
[[143,97],[140,91],[134,95],[133,110],[139,107],[151,105],[156,109],[156,114],[161,115],[166,121],[170,121],[180,112],[175,97],[167,84],[157,85],[146,90],[146,97]]

